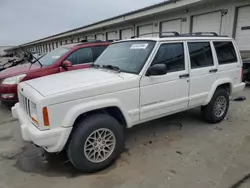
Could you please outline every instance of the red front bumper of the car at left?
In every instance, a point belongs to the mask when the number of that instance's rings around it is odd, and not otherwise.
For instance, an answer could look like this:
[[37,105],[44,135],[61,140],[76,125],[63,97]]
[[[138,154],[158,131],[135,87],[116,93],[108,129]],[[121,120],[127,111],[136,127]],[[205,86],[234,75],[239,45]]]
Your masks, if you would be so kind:
[[[12,98],[2,98],[2,94],[14,94]],[[3,85],[0,84],[0,101],[4,102],[17,102],[17,84],[14,85]]]

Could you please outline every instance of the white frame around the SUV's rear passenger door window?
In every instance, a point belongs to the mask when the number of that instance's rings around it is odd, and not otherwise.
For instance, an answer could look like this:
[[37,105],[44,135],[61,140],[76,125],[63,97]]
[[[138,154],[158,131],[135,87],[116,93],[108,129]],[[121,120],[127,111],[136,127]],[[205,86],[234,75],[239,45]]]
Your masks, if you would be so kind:
[[[210,45],[210,51],[211,51],[211,55],[212,55],[212,61],[213,61],[213,64],[212,65],[209,65],[209,66],[200,66],[200,67],[195,67],[195,68],[192,68],[192,60],[191,60],[191,55],[190,55],[190,50],[189,50],[189,43],[209,43]],[[215,59],[215,49],[214,49],[214,45],[213,45],[213,40],[186,40],[186,46],[187,46],[187,55],[188,55],[188,58],[189,58],[189,69],[190,71],[191,70],[197,70],[197,69],[205,69],[205,68],[211,68],[211,67],[215,67],[217,66],[217,61]]]

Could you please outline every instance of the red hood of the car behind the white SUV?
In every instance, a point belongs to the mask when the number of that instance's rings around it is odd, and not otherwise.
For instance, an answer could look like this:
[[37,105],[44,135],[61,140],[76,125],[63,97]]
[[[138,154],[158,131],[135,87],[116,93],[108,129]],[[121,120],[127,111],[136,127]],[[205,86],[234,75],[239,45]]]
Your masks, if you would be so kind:
[[30,63],[7,68],[3,71],[0,71],[0,79],[7,78],[10,76],[19,75],[19,74],[25,74],[31,70],[36,70],[36,69],[40,69],[40,68],[41,68],[40,65],[33,64],[30,66]]

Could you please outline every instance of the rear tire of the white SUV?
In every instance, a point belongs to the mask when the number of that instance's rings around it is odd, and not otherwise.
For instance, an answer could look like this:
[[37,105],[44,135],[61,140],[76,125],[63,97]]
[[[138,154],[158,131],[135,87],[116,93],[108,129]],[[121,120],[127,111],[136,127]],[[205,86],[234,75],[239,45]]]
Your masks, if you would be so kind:
[[[224,110],[221,110],[221,113],[218,113],[218,110],[216,110],[216,106],[218,101],[221,100],[225,102],[225,107],[222,107],[221,105],[220,110],[223,108]],[[206,105],[201,107],[201,116],[203,120],[205,120],[208,123],[219,123],[221,122],[225,116],[227,115],[229,108],[229,94],[228,92],[223,88],[218,88],[214,96],[212,97],[211,101]]]

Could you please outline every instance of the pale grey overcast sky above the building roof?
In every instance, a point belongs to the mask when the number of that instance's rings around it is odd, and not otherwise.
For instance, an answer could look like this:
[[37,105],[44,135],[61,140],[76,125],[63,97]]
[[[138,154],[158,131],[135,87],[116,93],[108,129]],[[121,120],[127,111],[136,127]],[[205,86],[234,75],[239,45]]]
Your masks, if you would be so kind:
[[0,46],[18,45],[163,0],[0,0]]

